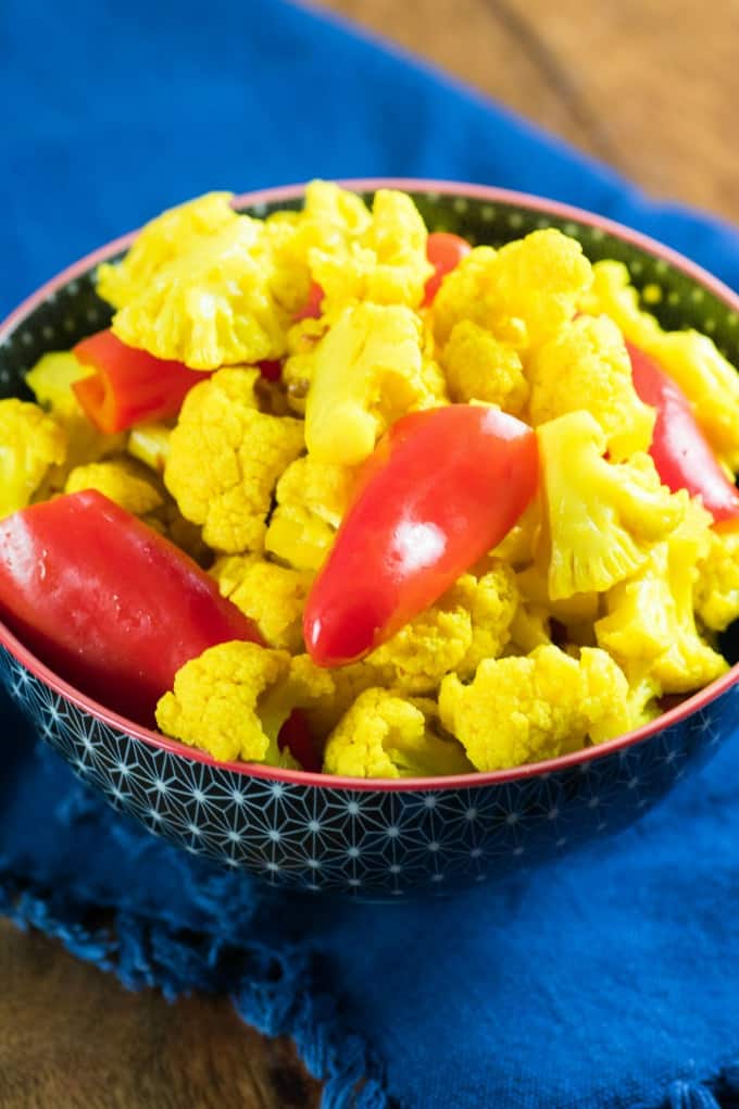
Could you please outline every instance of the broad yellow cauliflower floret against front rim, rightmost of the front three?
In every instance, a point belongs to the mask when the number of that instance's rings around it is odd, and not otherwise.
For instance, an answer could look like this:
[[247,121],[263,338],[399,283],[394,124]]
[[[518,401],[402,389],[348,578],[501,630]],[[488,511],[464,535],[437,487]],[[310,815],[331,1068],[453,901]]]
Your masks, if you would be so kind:
[[439,712],[480,771],[504,770],[576,751],[588,734],[603,741],[626,723],[628,683],[603,651],[576,661],[553,645],[525,658],[489,659],[474,681],[444,678]]

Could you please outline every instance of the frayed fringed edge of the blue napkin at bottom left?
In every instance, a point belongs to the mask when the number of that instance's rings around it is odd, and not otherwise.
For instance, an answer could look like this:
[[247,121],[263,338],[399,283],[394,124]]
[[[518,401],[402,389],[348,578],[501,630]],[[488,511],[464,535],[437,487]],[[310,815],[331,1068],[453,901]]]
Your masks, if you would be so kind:
[[[104,908],[104,906],[102,906]],[[110,923],[84,923],[101,905],[60,897],[19,881],[0,864],[0,915],[38,928],[76,958],[113,973],[127,989],[161,989],[172,1001],[193,990],[227,993],[239,1017],[266,1036],[288,1036],[308,1072],[324,1082],[321,1109],[393,1109],[381,1068],[360,1037],[341,1029],[331,997],[315,990],[316,958],[266,944],[235,947],[143,915],[111,909]]]

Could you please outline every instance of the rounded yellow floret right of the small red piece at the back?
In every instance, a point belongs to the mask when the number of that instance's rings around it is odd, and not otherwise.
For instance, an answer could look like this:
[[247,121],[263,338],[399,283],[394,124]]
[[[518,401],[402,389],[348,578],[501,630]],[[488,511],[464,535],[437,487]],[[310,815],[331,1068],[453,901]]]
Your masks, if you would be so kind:
[[471,319],[516,350],[527,350],[572,319],[593,281],[582,246],[555,228],[501,247],[476,247],[445,278],[433,303],[434,334],[447,343]]

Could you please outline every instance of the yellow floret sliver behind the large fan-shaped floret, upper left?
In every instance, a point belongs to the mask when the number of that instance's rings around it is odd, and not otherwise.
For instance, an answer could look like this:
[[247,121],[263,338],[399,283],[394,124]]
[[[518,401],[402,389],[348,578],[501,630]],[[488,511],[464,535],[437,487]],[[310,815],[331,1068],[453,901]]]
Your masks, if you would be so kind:
[[122,308],[146,291],[162,266],[236,220],[232,193],[206,193],[163,212],[136,235],[122,262],[105,262],[97,269],[97,292]]

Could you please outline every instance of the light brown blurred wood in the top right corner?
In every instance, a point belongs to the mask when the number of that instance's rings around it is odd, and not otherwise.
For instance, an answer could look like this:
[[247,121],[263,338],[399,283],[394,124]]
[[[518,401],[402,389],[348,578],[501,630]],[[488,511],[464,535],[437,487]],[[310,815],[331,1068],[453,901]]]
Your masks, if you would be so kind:
[[655,195],[739,222],[736,0],[324,7],[431,59]]

